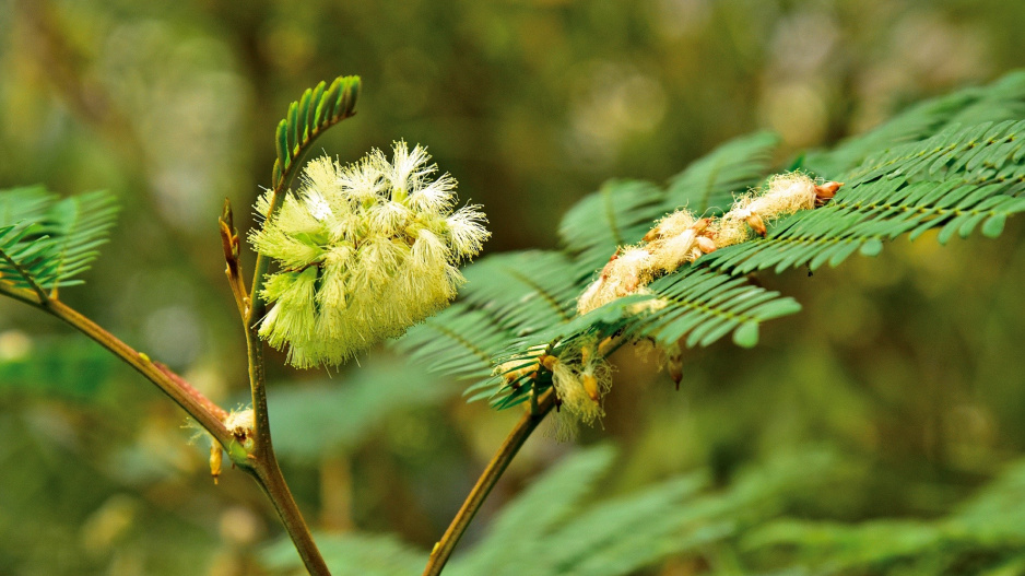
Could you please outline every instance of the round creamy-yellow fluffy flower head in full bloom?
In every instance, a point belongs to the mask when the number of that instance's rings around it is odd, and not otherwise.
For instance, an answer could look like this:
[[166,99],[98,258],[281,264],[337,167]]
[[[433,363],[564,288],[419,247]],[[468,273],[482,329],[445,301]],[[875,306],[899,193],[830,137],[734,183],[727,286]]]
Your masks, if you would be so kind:
[[[274,259],[260,336],[298,367],[339,365],[445,307],[466,281],[456,265],[490,236],[478,205],[456,207],[456,180],[426,149],[394,143],[342,166],[311,161],[298,193],[249,240]],[[270,197],[256,211],[270,211]]]

